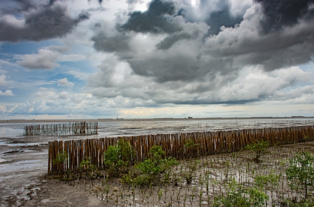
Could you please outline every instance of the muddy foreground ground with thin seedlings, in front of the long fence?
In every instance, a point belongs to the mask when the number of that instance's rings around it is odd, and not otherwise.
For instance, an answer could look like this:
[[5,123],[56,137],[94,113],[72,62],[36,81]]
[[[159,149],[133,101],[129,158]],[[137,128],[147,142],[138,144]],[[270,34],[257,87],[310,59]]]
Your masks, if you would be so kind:
[[[267,204],[280,206],[281,200],[296,195],[286,184],[284,170],[287,159],[301,151],[314,153],[314,142],[270,147],[260,163],[252,160],[250,151],[181,160],[168,182],[132,187],[118,179],[53,179],[46,175],[47,145],[9,145],[0,151],[0,206],[209,206],[229,180],[251,185],[256,175],[270,172],[280,176],[278,185],[267,191]],[[188,184],[185,177],[194,165]]]

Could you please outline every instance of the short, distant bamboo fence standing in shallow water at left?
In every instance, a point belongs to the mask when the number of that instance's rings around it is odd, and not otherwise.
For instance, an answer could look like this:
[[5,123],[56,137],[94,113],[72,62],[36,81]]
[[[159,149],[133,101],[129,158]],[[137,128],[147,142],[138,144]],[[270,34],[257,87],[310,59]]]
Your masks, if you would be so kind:
[[66,136],[97,134],[97,122],[69,122],[59,124],[38,124],[24,127],[24,135]]

